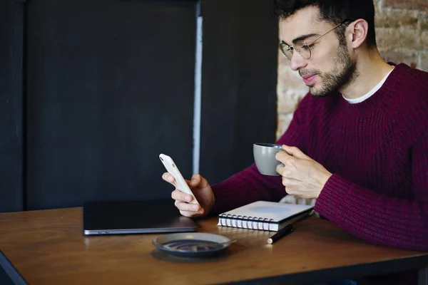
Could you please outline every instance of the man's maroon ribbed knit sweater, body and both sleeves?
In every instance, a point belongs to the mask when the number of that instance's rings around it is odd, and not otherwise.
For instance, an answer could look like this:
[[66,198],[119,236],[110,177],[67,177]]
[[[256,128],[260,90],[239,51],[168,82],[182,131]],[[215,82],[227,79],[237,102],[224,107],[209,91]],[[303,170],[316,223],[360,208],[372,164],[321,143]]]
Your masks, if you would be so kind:
[[[277,141],[333,173],[315,211],[356,237],[428,251],[428,73],[397,65],[362,103],[308,94]],[[255,165],[213,185],[220,213],[286,195]]]

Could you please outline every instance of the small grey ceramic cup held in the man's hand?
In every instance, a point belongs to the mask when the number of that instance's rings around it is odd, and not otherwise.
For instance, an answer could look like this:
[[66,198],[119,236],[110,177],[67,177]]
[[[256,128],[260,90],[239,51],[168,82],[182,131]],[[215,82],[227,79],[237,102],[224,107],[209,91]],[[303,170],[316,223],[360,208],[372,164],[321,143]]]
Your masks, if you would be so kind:
[[275,158],[277,152],[280,151],[285,150],[282,150],[281,145],[275,145],[274,143],[255,143],[253,145],[255,165],[261,174],[280,175],[276,171],[276,167],[280,165],[281,162]]

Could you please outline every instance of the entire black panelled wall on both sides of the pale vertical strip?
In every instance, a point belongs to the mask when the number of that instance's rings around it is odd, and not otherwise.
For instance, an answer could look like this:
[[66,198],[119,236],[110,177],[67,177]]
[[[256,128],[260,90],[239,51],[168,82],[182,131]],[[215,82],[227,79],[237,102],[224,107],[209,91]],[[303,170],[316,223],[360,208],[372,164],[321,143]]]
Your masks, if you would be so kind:
[[[169,198],[192,175],[196,1],[0,0],[0,212]],[[270,1],[202,0],[200,173],[276,129]]]

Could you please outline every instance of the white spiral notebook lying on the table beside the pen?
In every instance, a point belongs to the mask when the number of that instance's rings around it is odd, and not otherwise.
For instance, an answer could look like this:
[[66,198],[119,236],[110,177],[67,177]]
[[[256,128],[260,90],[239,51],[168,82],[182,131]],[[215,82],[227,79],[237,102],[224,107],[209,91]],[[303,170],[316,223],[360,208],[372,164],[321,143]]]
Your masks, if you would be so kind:
[[312,205],[257,201],[218,215],[218,226],[277,232],[313,212]]

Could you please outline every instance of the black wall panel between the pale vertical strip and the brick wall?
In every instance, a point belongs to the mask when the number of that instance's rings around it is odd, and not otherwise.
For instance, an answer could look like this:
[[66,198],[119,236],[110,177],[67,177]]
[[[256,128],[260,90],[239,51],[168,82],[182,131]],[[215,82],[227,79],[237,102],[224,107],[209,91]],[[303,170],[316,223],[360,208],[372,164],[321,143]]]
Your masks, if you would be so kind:
[[200,173],[215,183],[274,142],[277,19],[265,0],[203,0]]

